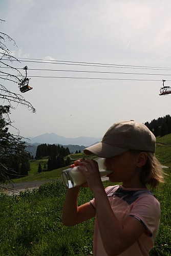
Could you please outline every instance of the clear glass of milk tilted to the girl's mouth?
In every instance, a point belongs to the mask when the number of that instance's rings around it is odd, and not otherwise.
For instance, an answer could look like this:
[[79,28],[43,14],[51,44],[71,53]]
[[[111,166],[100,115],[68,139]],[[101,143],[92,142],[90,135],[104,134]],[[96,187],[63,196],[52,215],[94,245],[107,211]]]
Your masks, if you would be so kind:
[[[95,161],[98,163],[100,176],[104,177],[112,173],[111,170],[105,170],[104,167],[105,158],[98,158]],[[79,186],[86,182],[86,177],[78,170],[79,166],[74,166],[66,170],[62,170],[62,181],[67,188]],[[86,168],[81,166],[81,168]]]

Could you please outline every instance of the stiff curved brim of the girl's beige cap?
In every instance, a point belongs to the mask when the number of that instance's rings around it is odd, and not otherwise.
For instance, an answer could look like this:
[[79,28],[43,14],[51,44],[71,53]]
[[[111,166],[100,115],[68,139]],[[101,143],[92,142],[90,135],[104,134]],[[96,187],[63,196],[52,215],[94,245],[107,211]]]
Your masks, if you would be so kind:
[[108,143],[99,142],[93,146],[89,146],[83,150],[86,155],[96,155],[102,158],[109,158],[120,155],[129,149],[123,147],[112,146]]

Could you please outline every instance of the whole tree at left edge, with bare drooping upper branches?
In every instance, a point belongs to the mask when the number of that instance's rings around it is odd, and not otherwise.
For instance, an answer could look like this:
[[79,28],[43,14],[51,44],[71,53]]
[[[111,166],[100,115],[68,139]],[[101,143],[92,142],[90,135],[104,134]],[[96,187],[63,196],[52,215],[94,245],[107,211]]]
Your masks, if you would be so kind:
[[[0,23],[2,22],[4,22],[4,20],[0,19]],[[0,104],[1,183],[10,181],[10,179],[16,175],[21,175],[21,171],[24,174],[28,173],[29,169],[29,166],[24,167],[24,161],[22,160],[24,158],[25,162],[28,162],[28,157],[25,152],[25,142],[21,141],[20,136],[13,135],[8,132],[9,126],[12,126],[12,122],[9,117],[10,108],[15,109],[14,104],[16,103],[16,105],[25,105],[29,110],[35,112],[32,104],[22,95],[14,93],[11,89],[8,89],[11,82],[18,87],[19,84],[23,84],[26,77],[24,77],[23,74],[13,66],[13,61],[18,60],[12,56],[12,51],[7,47],[7,41],[12,42],[13,45],[16,46],[15,41],[9,35],[0,32],[0,100],[2,100],[2,103]]]

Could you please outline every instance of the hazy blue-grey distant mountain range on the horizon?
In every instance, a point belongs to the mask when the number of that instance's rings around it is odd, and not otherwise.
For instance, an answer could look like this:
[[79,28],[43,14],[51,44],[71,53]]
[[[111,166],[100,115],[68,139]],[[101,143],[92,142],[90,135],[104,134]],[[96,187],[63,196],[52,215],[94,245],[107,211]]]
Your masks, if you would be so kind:
[[77,138],[66,138],[59,136],[55,133],[45,133],[36,137],[30,137],[29,140],[26,140],[29,144],[34,143],[46,143],[46,144],[61,144],[61,145],[83,145],[83,146],[90,146],[97,141],[100,141],[101,138],[94,138],[94,137],[77,137]]

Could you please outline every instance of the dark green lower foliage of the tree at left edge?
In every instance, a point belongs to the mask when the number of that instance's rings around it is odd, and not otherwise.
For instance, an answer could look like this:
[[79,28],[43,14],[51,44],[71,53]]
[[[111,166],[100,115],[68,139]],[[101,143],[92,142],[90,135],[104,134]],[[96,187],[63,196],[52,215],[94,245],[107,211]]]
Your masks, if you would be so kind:
[[19,136],[8,132],[10,106],[0,105],[0,182],[18,176],[28,175],[29,157],[26,144]]

